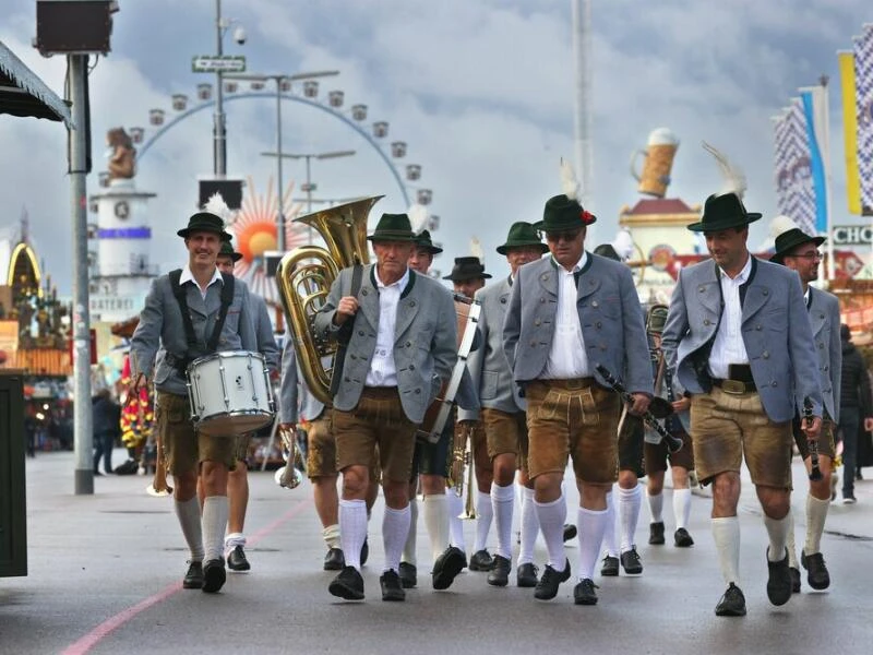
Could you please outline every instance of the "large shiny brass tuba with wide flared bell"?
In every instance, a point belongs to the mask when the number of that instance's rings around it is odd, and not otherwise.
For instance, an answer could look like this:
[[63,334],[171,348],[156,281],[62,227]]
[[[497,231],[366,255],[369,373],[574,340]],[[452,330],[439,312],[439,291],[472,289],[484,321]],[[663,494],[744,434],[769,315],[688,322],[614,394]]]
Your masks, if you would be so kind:
[[342,269],[369,263],[367,216],[382,195],[362,198],[295,219],[319,233],[326,249],[295,248],[276,271],[285,317],[294,338],[300,371],[309,390],[322,403],[331,402],[331,376],[336,344],[316,340],[311,322]]

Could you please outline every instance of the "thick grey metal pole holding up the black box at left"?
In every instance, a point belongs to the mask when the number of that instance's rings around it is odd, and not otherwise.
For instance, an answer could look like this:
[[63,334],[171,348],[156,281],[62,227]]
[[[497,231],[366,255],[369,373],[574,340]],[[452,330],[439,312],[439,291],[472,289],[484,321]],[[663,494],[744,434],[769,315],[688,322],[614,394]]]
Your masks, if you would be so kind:
[[68,55],[67,70],[75,126],[69,131],[70,202],[73,219],[73,444],[75,495],[94,493],[94,444],[91,417],[91,317],[88,312],[88,235],[85,160],[87,55]]

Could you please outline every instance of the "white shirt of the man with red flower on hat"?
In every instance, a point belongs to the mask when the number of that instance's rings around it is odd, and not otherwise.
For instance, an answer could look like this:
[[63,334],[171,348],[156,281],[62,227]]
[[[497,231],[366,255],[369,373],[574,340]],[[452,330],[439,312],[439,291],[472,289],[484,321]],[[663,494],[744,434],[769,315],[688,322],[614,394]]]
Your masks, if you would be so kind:
[[588,378],[591,367],[585,353],[585,338],[582,336],[579,312],[576,309],[576,278],[575,274],[585,267],[588,253],[582,251],[582,259],[567,271],[554,260],[555,275],[558,275],[558,311],[554,315],[554,338],[546,361],[542,378],[546,380],[570,380],[573,378]]

